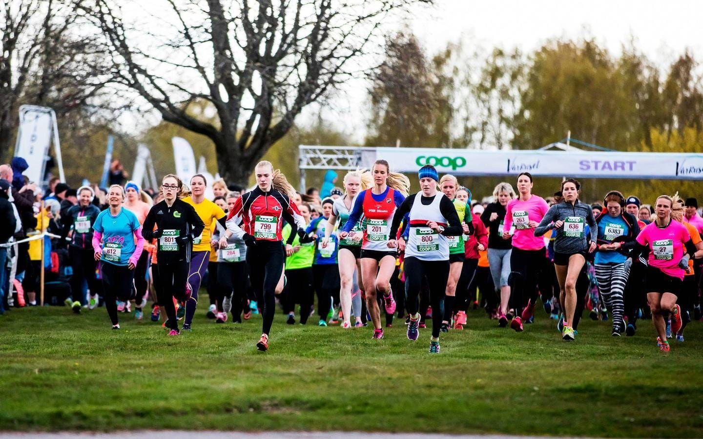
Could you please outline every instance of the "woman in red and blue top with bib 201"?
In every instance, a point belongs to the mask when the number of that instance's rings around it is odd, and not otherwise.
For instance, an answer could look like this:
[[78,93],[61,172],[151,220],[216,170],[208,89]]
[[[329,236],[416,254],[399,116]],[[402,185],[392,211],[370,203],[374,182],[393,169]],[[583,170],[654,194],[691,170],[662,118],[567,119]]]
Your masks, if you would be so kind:
[[359,192],[354,208],[349,214],[349,220],[344,223],[339,238],[345,240],[363,216],[361,281],[366,292],[366,307],[373,322],[373,339],[382,339],[383,329],[376,292],[380,292],[383,296],[386,313],[393,314],[396,309],[390,278],[395,271],[398,252],[387,245],[388,223],[392,221],[396,209],[405,199],[410,181],[403,174],[390,172],[388,162],[385,160],[376,160],[371,169],[371,176],[373,188]]

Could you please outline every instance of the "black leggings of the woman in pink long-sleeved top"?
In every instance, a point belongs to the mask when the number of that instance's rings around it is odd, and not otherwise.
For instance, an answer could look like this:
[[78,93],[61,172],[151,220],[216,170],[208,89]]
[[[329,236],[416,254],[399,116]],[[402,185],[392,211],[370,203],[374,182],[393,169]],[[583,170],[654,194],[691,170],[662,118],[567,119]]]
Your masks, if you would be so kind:
[[510,308],[515,308],[515,315],[522,315],[527,301],[534,303],[537,299],[537,281],[539,272],[545,266],[545,249],[521,250],[512,247],[510,252]]

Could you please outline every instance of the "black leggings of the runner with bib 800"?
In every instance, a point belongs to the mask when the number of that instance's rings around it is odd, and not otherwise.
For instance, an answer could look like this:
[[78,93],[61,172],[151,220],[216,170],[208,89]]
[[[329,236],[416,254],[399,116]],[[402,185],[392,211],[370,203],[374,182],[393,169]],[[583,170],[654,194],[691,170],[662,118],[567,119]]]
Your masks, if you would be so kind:
[[446,282],[449,280],[449,261],[420,261],[415,256],[405,258],[405,294],[408,313],[418,313],[418,296],[423,285],[423,277],[430,284],[432,303],[432,336],[439,337]]

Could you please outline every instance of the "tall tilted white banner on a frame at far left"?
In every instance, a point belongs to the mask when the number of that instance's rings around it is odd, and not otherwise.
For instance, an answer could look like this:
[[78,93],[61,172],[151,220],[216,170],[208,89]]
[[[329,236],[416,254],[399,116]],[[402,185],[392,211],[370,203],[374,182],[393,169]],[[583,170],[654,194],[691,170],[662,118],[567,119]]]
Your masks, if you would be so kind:
[[51,146],[52,111],[51,108],[34,105],[20,107],[20,130],[15,156],[27,160],[30,167],[24,175],[37,184],[44,178],[44,160]]

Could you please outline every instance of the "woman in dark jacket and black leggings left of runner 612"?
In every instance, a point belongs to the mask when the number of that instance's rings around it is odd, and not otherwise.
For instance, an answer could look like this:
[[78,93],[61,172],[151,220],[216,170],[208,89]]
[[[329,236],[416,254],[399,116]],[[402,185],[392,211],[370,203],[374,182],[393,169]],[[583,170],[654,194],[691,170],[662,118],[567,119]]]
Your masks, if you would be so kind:
[[73,275],[68,282],[73,296],[69,300],[72,302],[71,308],[74,313],[80,313],[82,302],[85,301],[85,296],[82,293],[84,281],[87,282],[90,290],[88,308],[94,309],[98,306],[98,291],[101,287],[96,277],[93,224],[100,214],[100,209],[92,203],[94,197],[95,194],[90,186],[81,186],[78,188],[78,204],[68,209],[66,215],[61,217],[63,229],[59,240],[60,246],[63,247],[68,232],[73,230],[68,245],[68,257],[73,268]]

